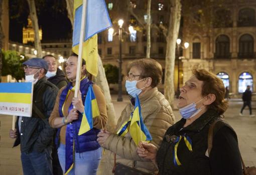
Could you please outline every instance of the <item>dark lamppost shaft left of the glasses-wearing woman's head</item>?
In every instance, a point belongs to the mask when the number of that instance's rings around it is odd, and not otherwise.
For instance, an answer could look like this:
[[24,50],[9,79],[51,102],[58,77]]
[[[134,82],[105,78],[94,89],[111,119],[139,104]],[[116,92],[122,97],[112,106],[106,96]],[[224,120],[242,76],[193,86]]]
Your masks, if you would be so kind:
[[122,101],[122,28],[119,28],[119,71],[117,101]]

